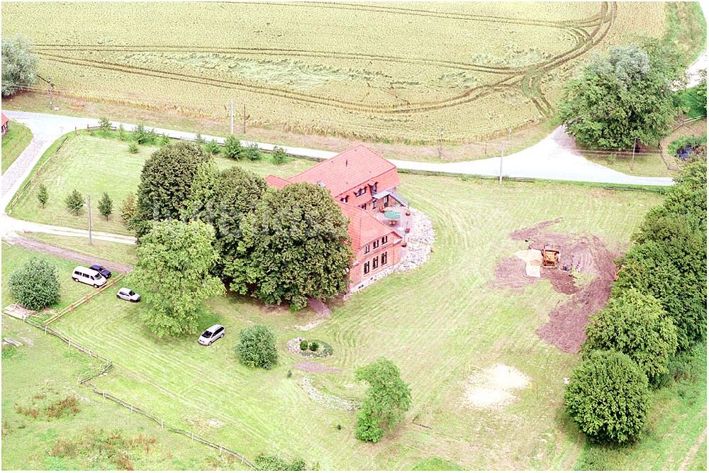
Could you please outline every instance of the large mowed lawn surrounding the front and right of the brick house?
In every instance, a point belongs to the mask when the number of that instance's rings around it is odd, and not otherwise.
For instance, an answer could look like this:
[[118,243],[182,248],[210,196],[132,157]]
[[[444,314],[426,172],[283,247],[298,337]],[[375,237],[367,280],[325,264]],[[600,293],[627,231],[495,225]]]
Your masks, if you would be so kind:
[[[430,457],[467,469],[570,469],[584,438],[562,413],[562,393],[579,355],[535,334],[567,296],[549,282],[512,291],[490,281],[502,258],[525,247],[510,240],[513,230],[562,217],[554,230],[597,235],[622,252],[661,196],[411,174],[401,180],[401,194],[432,218],[430,260],[334,304],[332,317],[308,332],[298,325],[315,320],[311,311],[225,296],[209,301],[201,319],[204,327],[225,325],[223,340],[211,347],[197,345],[196,336],[158,340],[140,321],[149,294],[141,304],[104,294],[55,328],[116,362],[97,380],[100,389],[249,457],[297,455],[320,469],[410,469]],[[277,332],[280,361],[268,372],[243,367],[233,351],[238,331],[254,323]],[[285,343],[297,336],[333,345],[333,356],[320,362],[341,371],[294,367],[303,358]],[[354,369],[381,356],[400,367],[413,405],[398,429],[372,445],[354,439],[355,413],[318,404],[300,383],[307,376],[328,394],[362,399],[365,386],[354,382]],[[518,369],[530,383],[499,410],[464,405],[468,377],[497,364]]]

